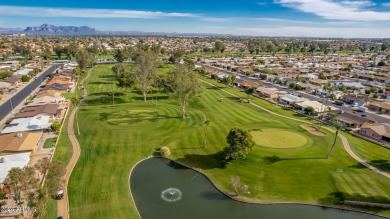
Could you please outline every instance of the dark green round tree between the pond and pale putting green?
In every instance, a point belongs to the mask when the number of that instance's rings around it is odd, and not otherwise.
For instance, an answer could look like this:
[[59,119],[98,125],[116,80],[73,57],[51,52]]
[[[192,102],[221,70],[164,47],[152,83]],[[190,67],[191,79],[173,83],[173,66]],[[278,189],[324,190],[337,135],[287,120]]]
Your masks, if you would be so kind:
[[243,128],[232,128],[226,137],[229,147],[225,148],[225,159],[245,159],[255,142],[250,132]]

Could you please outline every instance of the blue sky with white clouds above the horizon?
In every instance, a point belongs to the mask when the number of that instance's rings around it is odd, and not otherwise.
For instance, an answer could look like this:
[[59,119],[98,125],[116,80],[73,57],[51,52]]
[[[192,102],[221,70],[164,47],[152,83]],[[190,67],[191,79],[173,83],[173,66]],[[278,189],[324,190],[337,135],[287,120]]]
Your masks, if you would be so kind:
[[0,1],[0,27],[254,36],[390,37],[390,0]]

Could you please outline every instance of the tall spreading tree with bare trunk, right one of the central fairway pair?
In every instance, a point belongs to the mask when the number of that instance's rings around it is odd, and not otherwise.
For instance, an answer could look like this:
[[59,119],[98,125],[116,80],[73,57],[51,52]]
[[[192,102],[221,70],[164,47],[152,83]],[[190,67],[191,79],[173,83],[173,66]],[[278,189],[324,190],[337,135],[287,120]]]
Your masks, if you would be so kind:
[[187,65],[176,65],[168,73],[168,81],[174,96],[179,99],[182,118],[185,119],[191,98],[201,92],[201,85],[196,77],[196,73]]

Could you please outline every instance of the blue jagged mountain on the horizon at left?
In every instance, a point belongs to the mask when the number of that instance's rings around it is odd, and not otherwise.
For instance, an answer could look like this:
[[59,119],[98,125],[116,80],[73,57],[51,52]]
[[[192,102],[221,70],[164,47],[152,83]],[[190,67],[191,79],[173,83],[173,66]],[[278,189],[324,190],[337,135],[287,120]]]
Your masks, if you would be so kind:
[[53,34],[53,35],[89,35],[96,34],[95,28],[81,26],[54,26],[51,24],[42,24],[41,26],[30,26],[23,30],[30,34]]

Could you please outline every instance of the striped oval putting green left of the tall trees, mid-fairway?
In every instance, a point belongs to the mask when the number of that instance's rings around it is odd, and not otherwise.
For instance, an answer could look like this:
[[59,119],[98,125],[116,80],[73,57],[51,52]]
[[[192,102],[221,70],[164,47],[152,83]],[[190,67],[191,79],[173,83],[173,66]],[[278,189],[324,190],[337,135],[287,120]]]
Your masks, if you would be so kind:
[[107,116],[107,123],[111,125],[133,125],[154,122],[157,112],[150,110],[123,110]]

